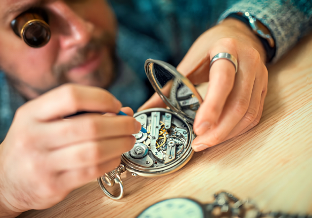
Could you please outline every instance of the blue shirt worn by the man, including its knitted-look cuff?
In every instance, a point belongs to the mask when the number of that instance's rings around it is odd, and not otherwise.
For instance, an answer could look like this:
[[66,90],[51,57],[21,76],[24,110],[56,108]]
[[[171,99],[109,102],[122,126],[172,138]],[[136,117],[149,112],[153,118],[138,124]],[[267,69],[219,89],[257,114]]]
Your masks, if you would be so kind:
[[[177,66],[200,34],[231,13],[248,11],[267,26],[276,44],[272,62],[312,30],[312,0],[110,0],[110,3],[119,22],[117,53],[123,67],[108,90],[134,110],[147,98],[144,61],[160,59]],[[0,141],[16,109],[24,103],[0,73]]]

